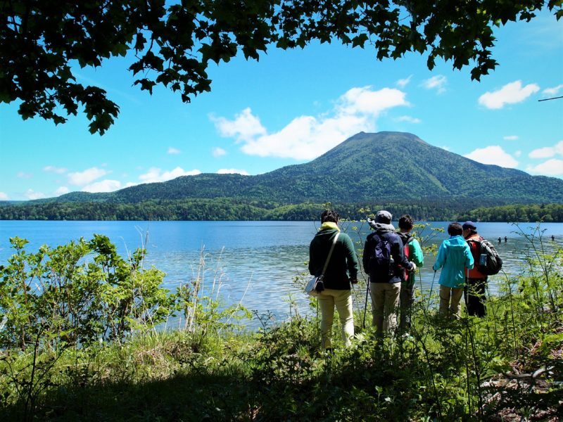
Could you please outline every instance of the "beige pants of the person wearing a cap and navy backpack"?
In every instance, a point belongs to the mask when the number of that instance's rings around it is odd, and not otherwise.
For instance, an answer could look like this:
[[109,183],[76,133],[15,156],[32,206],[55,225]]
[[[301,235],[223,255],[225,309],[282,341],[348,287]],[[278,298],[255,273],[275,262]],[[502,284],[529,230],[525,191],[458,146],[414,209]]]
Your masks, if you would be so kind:
[[379,333],[395,331],[399,307],[400,283],[370,283],[372,296],[372,324]]

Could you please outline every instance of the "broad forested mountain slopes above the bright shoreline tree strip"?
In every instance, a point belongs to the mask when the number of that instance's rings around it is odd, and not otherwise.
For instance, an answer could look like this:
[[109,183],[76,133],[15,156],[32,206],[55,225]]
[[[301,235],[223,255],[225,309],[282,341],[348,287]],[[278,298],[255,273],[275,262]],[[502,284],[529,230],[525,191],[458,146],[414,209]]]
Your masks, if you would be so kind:
[[431,146],[414,134],[360,132],[311,162],[256,176],[199,174],[112,193],[74,192],[40,201],[139,203],[188,198],[276,204],[419,200],[467,200],[476,205],[563,203],[563,180],[484,165]]

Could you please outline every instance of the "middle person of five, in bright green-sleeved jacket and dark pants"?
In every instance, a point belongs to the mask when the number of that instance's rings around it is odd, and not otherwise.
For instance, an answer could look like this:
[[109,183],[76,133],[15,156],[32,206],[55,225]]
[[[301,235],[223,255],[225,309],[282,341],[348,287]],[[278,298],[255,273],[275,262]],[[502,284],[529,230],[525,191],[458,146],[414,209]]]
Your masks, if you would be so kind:
[[[412,217],[408,214],[402,215],[399,218],[399,231],[398,235],[403,242],[403,251],[407,252],[407,259],[410,262],[415,262],[417,268],[424,265],[424,254],[420,243],[417,239],[412,237]],[[405,254],[406,255],[406,254]],[[410,321],[412,316],[412,305],[415,302],[415,272],[403,271],[403,277],[400,283],[400,321],[399,330],[407,333],[410,330]]]

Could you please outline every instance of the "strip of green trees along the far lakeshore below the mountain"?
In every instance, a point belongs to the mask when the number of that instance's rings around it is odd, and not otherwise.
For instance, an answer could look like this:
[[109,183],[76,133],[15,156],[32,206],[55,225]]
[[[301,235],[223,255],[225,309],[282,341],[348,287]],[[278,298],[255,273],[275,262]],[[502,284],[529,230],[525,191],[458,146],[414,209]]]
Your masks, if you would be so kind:
[[[335,203],[346,219],[365,219],[369,210],[408,213],[419,221],[563,222],[563,204],[479,206],[475,200],[424,200],[394,203]],[[482,205],[482,204],[481,204]],[[489,206],[487,206],[489,205]],[[147,200],[141,203],[0,203],[4,220],[271,220],[315,221],[324,204],[281,205],[232,198]],[[468,211],[469,210],[469,211]]]

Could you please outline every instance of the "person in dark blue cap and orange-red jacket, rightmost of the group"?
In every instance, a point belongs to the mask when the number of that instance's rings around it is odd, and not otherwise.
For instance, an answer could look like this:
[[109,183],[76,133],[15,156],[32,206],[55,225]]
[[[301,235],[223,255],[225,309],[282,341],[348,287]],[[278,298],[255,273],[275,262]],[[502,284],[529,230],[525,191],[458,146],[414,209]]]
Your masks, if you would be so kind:
[[[477,226],[474,222],[464,222],[462,229],[463,237],[469,245],[474,262],[479,262],[479,255],[481,254],[479,245],[483,238],[477,233]],[[498,239],[500,242],[500,238]],[[485,306],[487,276],[481,273],[476,265],[472,269],[466,269],[465,274],[467,275],[467,281],[464,287],[464,298],[467,314],[481,318],[487,314]]]

